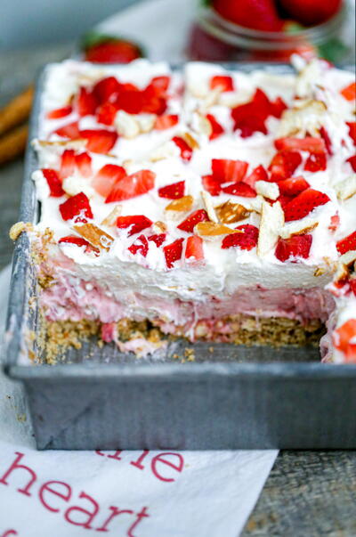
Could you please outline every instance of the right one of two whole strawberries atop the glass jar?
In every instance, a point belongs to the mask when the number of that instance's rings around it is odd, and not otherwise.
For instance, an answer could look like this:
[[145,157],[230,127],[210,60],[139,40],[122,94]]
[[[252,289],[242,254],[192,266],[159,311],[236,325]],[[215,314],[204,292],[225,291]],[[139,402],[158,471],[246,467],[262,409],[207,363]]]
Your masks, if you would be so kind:
[[279,0],[279,4],[288,18],[312,26],[335,15],[343,0]]

